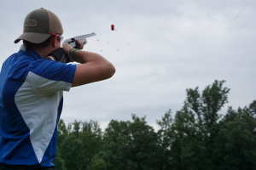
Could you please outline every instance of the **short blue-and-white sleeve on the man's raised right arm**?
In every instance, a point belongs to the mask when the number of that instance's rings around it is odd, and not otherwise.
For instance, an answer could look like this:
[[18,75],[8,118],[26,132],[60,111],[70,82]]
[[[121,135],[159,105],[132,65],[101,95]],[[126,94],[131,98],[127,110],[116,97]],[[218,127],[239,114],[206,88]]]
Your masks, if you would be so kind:
[[39,95],[55,94],[58,91],[69,91],[76,65],[66,65],[53,60],[35,61],[28,73],[32,85]]

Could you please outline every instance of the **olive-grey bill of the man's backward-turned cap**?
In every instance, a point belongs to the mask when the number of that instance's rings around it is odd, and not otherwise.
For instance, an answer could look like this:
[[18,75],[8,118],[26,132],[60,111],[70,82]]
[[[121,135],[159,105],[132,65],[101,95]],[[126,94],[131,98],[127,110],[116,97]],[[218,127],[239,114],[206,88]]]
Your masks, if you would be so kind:
[[41,43],[47,40],[50,37],[50,34],[36,33],[36,32],[24,32],[15,40],[15,43],[20,42],[20,40],[26,40],[32,43]]

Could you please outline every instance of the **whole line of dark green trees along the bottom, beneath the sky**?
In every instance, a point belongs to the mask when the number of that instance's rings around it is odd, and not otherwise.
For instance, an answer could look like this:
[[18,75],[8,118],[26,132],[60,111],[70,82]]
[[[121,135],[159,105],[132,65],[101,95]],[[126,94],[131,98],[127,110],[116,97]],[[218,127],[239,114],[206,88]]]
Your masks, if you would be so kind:
[[256,169],[256,100],[244,108],[228,103],[230,88],[214,81],[202,93],[186,89],[180,111],[156,120],[58,123],[56,170],[241,170]]

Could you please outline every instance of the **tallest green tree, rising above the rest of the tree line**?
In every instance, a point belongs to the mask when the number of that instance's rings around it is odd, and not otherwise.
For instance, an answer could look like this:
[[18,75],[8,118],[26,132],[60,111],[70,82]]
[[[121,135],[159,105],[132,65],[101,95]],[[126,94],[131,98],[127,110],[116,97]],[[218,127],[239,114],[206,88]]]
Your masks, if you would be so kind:
[[228,102],[227,94],[230,91],[223,88],[223,83],[214,81],[202,94],[198,87],[187,89],[182,110],[177,111],[173,120],[171,114],[166,113],[158,122],[159,133],[162,133],[162,150],[168,156],[165,165],[179,170],[215,169],[212,153],[216,135],[220,131],[218,122],[221,116],[218,111]]

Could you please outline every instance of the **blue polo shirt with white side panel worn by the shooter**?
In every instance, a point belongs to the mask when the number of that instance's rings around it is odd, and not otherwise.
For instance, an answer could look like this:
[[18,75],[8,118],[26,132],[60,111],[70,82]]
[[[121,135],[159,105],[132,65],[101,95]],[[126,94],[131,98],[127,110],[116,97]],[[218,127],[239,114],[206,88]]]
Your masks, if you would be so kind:
[[63,91],[76,65],[44,60],[25,45],[0,72],[0,163],[54,167]]

